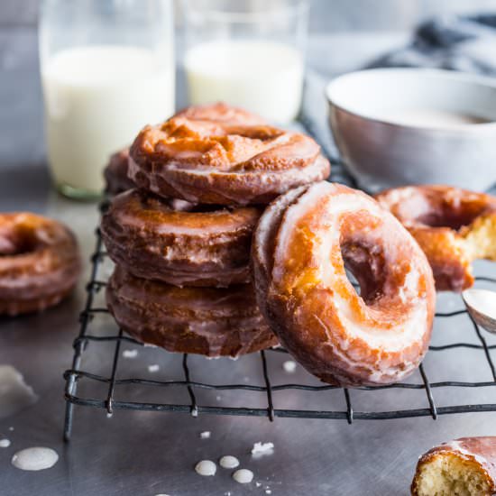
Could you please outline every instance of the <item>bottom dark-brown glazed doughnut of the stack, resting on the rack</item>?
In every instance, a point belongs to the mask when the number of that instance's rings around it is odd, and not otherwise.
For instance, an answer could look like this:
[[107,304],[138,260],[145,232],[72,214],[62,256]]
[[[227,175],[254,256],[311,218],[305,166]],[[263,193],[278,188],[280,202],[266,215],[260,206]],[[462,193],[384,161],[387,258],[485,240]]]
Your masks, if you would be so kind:
[[106,301],[124,331],[170,352],[235,357],[277,344],[251,285],[177,288],[117,266]]

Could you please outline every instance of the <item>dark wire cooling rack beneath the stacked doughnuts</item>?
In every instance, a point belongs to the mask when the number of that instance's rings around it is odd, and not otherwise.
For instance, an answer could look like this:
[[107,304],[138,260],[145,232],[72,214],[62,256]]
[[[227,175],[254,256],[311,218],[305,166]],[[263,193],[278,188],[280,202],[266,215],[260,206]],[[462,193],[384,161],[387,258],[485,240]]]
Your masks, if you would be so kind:
[[[106,206],[102,206],[105,209]],[[100,232],[96,229],[96,247],[95,252],[91,256],[91,271],[90,278],[87,283],[87,301],[86,306],[80,314],[80,328],[79,334],[74,341],[74,358],[72,367],[65,372],[64,378],[66,380],[65,399],[66,399],[66,416],[64,427],[64,438],[69,440],[72,424],[74,406],[86,406],[96,409],[104,409],[107,414],[112,414],[115,409],[127,410],[152,410],[152,411],[168,411],[168,412],[181,412],[189,413],[193,416],[203,414],[215,415],[235,415],[235,416],[252,416],[252,417],[266,417],[271,421],[275,418],[327,418],[327,419],[344,419],[351,424],[356,419],[371,420],[371,419],[390,419],[390,418],[413,418],[413,417],[431,417],[436,419],[439,415],[466,413],[466,412],[488,412],[496,411],[496,390],[493,390],[494,403],[471,403],[471,404],[451,404],[449,406],[439,406],[436,404],[435,397],[438,392],[444,390],[448,393],[448,398],[454,390],[460,389],[485,389],[490,390],[491,387],[496,386],[496,369],[491,357],[491,350],[496,348],[496,344],[489,345],[486,341],[486,336],[482,334],[481,329],[473,321],[472,317],[465,309],[456,309],[455,311],[436,313],[436,320],[455,319],[456,317],[464,316],[463,325],[467,327],[467,332],[473,332],[473,343],[470,339],[464,339],[463,342],[450,342],[442,345],[431,345],[429,354],[433,353],[455,353],[456,350],[464,350],[477,353],[477,362],[480,360],[487,362],[491,372],[489,381],[429,381],[427,372],[424,365],[420,365],[418,373],[418,381],[413,382],[399,382],[389,386],[381,387],[362,387],[356,390],[377,391],[380,390],[395,390],[394,394],[394,409],[386,409],[378,411],[378,408],[360,408],[354,409],[352,404],[352,391],[345,388],[338,388],[317,380],[313,383],[281,383],[274,385],[271,380],[270,363],[275,359],[276,354],[286,354],[281,348],[272,348],[259,353],[260,356],[260,371],[262,372],[262,385],[252,385],[246,383],[213,383],[210,381],[192,381],[191,363],[188,361],[188,354],[182,356],[182,380],[149,380],[138,377],[127,377],[122,379],[118,371],[122,369],[122,347],[123,344],[133,344],[135,346],[142,346],[139,342],[132,337],[125,335],[122,329],[118,329],[115,325],[115,332],[112,334],[99,335],[94,333],[95,321],[98,318],[105,318],[108,310],[105,306],[98,306],[96,299],[98,293],[106,287],[106,276],[101,270],[102,265],[106,260],[106,253],[103,247]],[[477,281],[484,281],[485,283],[493,284],[496,289],[496,279],[478,277]],[[473,331],[470,331],[473,329]],[[88,372],[83,368],[83,357],[90,354],[86,351],[88,344],[91,346],[103,346],[110,344],[113,351],[108,356],[109,374],[101,374],[95,372]],[[466,351],[466,352],[465,352]],[[163,351],[164,354],[167,352]],[[427,354],[427,356],[429,355]],[[456,358],[457,360],[458,358]],[[93,394],[91,397],[78,396],[78,388],[81,383],[86,385],[98,385],[96,388],[99,394]],[[103,389],[102,389],[103,386]],[[116,389],[120,387],[128,388],[133,400],[117,400]],[[161,402],[142,402],[137,399],[140,398],[140,389],[142,388],[155,388],[161,389],[182,389],[187,391],[187,402],[176,401],[161,401]],[[216,406],[207,406],[198,400],[198,392],[213,391],[218,394],[219,391],[233,391],[236,394],[233,405],[223,404]],[[276,408],[276,398],[281,392],[286,391],[292,397],[299,393],[312,393],[317,395],[329,394],[329,391],[342,390],[344,395],[344,402],[342,409],[316,409],[312,401],[299,402],[299,405],[305,405],[305,408],[299,409],[284,409]],[[421,408],[411,408],[409,402],[405,401],[405,394],[400,391],[407,392],[412,395],[414,390],[420,391],[425,394],[422,401],[424,404]],[[251,408],[248,406],[240,406],[248,404],[244,402],[246,394],[251,392],[260,393],[264,397],[263,408]],[[436,394],[434,394],[436,391]],[[492,396],[492,395],[490,395]],[[161,398],[163,398],[161,396]],[[315,397],[314,397],[315,398]],[[374,403],[377,406],[377,402]]]

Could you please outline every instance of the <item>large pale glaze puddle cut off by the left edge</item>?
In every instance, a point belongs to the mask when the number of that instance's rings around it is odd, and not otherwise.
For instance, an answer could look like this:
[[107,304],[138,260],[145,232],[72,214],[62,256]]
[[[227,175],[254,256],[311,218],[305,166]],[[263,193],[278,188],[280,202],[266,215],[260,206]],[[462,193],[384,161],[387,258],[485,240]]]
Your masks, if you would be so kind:
[[11,365],[0,365],[0,418],[11,417],[37,400],[21,372]]

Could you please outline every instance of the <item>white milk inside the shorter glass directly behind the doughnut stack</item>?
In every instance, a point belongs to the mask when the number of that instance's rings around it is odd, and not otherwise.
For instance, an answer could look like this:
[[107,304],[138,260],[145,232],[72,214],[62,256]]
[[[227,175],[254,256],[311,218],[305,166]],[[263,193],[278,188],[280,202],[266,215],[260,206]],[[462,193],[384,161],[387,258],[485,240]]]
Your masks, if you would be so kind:
[[299,112],[303,55],[271,41],[212,41],[185,58],[191,104],[224,101],[278,123]]

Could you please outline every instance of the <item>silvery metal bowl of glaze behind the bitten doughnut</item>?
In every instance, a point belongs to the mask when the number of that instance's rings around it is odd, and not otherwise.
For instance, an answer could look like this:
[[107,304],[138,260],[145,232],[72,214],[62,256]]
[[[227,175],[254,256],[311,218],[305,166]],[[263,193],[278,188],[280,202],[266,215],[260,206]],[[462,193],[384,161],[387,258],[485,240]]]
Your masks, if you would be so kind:
[[326,87],[339,152],[359,186],[485,190],[496,184],[496,80],[448,70],[369,69]]

